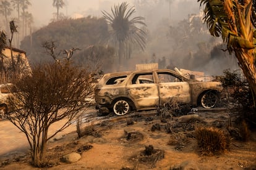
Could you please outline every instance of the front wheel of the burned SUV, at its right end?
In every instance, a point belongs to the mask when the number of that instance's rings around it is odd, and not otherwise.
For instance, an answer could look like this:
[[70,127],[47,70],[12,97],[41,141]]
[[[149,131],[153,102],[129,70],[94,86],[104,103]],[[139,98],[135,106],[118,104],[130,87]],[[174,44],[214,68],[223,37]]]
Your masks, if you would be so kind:
[[218,102],[218,96],[215,94],[215,92],[208,91],[202,95],[201,105],[204,108],[213,108],[216,106],[217,102]]

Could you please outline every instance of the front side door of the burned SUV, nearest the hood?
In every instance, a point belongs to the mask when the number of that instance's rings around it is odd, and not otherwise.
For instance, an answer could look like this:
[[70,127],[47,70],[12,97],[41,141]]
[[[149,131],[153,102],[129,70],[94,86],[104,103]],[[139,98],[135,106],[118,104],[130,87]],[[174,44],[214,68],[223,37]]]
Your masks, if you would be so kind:
[[168,71],[158,72],[157,76],[160,105],[170,102],[171,99],[181,103],[190,102],[189,83],[183,81],[180,76]]

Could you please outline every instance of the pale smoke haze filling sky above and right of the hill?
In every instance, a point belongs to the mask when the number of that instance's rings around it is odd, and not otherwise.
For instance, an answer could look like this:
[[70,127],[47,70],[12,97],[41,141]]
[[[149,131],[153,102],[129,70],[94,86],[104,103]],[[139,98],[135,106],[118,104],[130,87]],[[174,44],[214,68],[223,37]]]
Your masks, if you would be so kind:
[[[53,21],[56,8],[53,0],[31,0],[28,12],[33,15],[33,29],[36,31]],[[68,18],[102,17],[102,10],[111,12],[111,7],[121,4],[121,0],[64,0],[66,6],[59,12]],[[162,68],[185,68],[204,71],[208,75],[219,75],[222,70],[237,67],[233,55],[217,54],[213,45],[221,44],[221,39],[210,36],[202,23],[202,10],[195,0],[130,0],[136,16],[145,18],[147,24],[147,47],[145,51],[135,50],[129,65],[124,70],[134,70],[137,63],[158,62]],[[16,12],[17,13],[17,12]],[[14,12],[14,15],[17,15]],[[12,16],[13,18],[14,16]],[[4,18],[4,17],[2,17]],[[2,22],[2,20],[1,20]],[[4,22],[2,22],[4,23]],[[221,50],[221,49],[217,49]],[[231,60],[229,59],[231,58]],[[231,62],[232,61],[232,62]],[[216,68],[218,65],[218,68]],[[116,70],[113,68],[113,70]]]

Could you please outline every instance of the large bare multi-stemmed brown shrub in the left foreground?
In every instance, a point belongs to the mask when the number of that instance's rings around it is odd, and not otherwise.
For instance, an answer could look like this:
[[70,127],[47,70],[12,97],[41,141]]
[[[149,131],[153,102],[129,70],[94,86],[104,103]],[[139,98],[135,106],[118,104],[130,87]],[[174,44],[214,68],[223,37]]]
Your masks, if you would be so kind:
[[[36,65],[16,86],[18,92],[9,98],[15,108],[6,118],[25,134],[32,164],[40,167],[45,163],[48,140],[70,126],[92,101],[92,78],[70,62],[54,62]],[[49,127],[60,120],[64,124],[48,136]]]

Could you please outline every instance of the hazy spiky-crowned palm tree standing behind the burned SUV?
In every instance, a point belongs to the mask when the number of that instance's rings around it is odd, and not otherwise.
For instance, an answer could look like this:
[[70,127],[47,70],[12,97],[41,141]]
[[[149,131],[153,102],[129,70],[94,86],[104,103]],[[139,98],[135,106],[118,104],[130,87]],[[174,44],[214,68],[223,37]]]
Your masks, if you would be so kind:
[[119,67],[122,65],[122,59],[124,59],[125,49],[130,51],[130,44],[137,44],[143,50],[145,48],[145,36],[146,33],[137,25],[146,26],[143,22],[143,17],[130,18],[135,13],[134,7],[128,8],[127,2],[122,2],[121,5],[111,8],[112,15],[102,11],[103,17],[106,19],[109,25],[111,25],[111,36],[115,42],[118,43],[118,59]]

